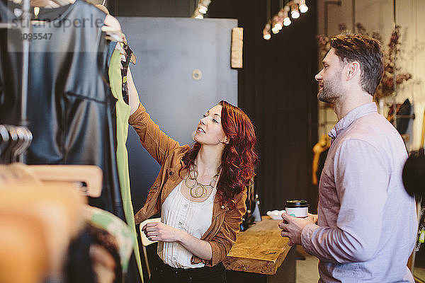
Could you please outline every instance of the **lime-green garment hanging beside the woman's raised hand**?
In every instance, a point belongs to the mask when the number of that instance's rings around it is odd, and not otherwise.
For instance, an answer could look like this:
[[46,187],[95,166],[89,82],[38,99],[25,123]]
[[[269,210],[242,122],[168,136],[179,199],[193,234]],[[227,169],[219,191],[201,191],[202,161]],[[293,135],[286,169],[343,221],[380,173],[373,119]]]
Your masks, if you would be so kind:
[[[120,42],[117,44],[121,45]],[[140,261],[139,245],[137,243],[137,232],[135,228],[135,214],[132,209],[131,192],[130,192],[130,175],[128,172],[128,152],[125,142],[128,137],[128,118],[130,117],[130,105],[126,104],[123,100],[122,92],[122,77],[121,77],[121,54],[119,50],[114,50],[111,62],[109,63],[109,83],[111,86],[112,94],[118,99],[115,105],[117,117],[117,166],[118,178],[120,180],[121,198],[123,199],[123,208],[125,220],[127,221],[130,230],[134,236],[134,251],[139,268],[140,277],[143,282],[142,262]]]

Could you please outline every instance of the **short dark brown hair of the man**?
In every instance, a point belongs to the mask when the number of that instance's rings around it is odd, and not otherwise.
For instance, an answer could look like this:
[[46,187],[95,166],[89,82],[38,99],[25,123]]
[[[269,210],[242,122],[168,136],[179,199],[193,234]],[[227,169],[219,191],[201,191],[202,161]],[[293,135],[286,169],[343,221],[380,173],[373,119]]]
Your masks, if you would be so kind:
[[365,35],[336,35],[330,42],[341,62],[360,63],[361,88],[373,96],[384,72],[380,42]]

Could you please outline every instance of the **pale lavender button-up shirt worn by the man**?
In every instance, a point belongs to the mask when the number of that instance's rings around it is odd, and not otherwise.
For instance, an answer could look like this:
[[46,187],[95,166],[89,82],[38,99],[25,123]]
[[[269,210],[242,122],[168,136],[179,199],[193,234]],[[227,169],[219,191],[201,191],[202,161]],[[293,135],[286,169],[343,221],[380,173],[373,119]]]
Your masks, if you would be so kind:
[[349,112],[329,137],[318,225],[301,233],[307,253],[319,258],[319,282],[414,282],[407,260],[418,226],[402,183],[402,137],[375,103]]

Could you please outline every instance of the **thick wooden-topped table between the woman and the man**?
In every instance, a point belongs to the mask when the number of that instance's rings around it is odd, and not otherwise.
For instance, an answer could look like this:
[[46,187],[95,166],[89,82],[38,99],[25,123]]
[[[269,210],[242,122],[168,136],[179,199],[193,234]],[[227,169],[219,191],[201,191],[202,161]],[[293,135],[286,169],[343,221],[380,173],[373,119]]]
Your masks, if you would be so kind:
[[295,283],[295,247],[280,236],[278,220],[263,216],[240,232],[224,265],[227,282]]

